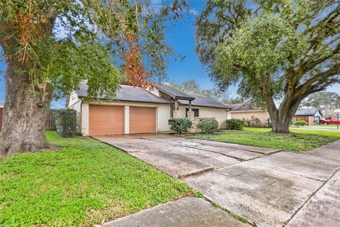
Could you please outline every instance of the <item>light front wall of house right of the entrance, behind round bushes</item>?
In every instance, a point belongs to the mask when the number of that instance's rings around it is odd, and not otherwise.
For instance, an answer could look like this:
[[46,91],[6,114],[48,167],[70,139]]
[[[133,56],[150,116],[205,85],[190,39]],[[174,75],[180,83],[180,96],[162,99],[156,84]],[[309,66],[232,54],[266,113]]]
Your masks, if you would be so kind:
[[[179,106],[181,117],[186,117],[186,108],[188,108],[186,105]],[[215,118],[216,121],[218,121],[218,127],[220,129],[227,127],[227,109],[203,106],[191,106],[191,108],[199,109],[199,118]]]

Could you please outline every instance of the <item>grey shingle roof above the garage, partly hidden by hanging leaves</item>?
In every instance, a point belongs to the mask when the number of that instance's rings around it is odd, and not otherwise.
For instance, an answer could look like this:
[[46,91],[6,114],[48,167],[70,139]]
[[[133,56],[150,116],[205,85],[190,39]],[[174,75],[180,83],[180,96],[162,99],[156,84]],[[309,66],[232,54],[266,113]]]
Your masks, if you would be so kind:
[[[86,97],[87,96],[87,84],[86,82],[81,82],[80,89],[77,91],[77,95],[79,97]],[[128,85],[120,85],[117,93],[116,93],[116,100],[119,101],[137,101],[137,102],[148,102],[148,103],[155,103],[155,104],[171,104],[171,101],[167,101],[162,97],[156,96],[151,92],[148,92],[145,89],[140,87],[132,87]]]

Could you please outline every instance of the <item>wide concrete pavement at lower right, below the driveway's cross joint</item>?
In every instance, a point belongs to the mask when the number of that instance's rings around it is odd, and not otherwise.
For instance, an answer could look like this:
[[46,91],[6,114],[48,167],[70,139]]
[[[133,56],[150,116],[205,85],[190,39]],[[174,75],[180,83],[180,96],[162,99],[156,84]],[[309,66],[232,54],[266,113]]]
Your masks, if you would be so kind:
[[[257,226],[284,226],[293,218],[292,226],[321,226],[319,221],[324,219],[323,227],[334,227],[340,216],[340,199],[335,196],[339,194],[339,174],[333,176],[339,170],[339,160],[340,143],[335,142],[309,153],[275,153],[184,180]],[[330,184],[332,180],[338,183]],[[322,207],[328,207],[329,212],[320,213]],[[321,214],[323,218],[317,218]],[[297,215],[300,218],[295,218]],[[314,218],[307,219],[306,225],[302,220],[309,216]]]

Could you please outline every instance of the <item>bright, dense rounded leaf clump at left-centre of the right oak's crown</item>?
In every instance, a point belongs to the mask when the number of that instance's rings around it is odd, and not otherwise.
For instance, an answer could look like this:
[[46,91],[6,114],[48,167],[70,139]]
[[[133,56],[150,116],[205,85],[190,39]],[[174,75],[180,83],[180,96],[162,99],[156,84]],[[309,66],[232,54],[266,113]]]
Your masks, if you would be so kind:
[[246,21],[234,36],[217,46],[213,74],[237,82],[240,75],[256,81],[276,72],[288,54],[283,50],[288,33],[285,23],[270,13]]

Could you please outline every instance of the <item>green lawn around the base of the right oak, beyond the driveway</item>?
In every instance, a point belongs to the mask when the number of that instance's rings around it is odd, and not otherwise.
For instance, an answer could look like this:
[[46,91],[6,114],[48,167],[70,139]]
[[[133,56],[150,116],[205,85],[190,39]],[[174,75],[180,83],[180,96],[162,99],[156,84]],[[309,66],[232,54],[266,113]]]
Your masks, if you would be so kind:
[[340,140],[340,131],[290,129],[291,134],[271,133],[270,128],[244,128],[242,131],[222,131],[216,134],[198,133],[194,138],[217,140],[262,148],[302,152]]

